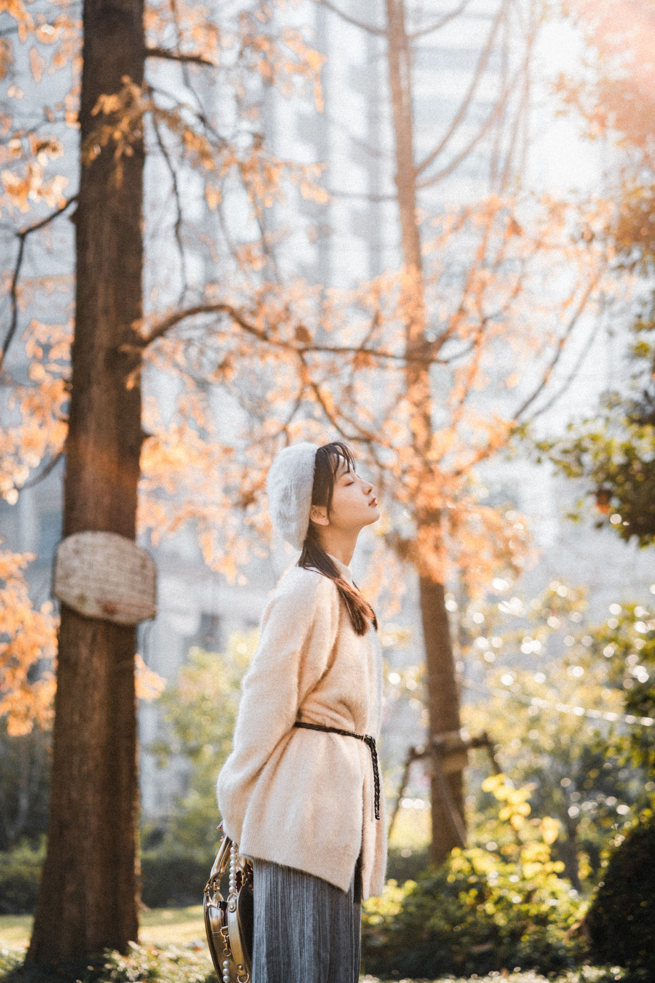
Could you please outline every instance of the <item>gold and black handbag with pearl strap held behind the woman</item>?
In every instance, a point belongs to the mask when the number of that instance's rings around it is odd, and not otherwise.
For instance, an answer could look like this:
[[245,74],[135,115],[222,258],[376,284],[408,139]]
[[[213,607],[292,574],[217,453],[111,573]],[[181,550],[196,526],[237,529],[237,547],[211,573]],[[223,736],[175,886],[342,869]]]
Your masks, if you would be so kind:
[[[230,882],[227,900],[220,883],[228,863]],[[239,855],[239,844],[229,837],[221,840],[209,880],[204,889],[204,928],[216,975],[221,983],[249,983],[252,971],[252,864]]]

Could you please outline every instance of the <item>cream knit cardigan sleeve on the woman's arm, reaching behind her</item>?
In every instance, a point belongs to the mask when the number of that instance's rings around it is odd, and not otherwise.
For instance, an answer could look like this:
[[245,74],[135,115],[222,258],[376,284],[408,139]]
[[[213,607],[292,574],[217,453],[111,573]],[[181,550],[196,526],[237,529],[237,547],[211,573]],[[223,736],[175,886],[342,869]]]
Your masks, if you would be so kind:
[[216,786],[223,829],[241,841],[247,803],[308,693],[327,668],[339,626],[339,595],[327,577],[293,568],[264,611],[243,682],[233,750]]

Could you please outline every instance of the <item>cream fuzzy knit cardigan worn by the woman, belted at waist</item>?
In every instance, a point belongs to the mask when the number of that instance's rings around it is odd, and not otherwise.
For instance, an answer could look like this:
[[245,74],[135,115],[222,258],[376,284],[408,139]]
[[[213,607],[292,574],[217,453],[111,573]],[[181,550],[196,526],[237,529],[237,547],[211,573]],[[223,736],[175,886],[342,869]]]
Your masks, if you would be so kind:
[[[348,566],[332,557],[353,583]],[[377,632],[355,634],[333,581],[291,567],[264,612],[246,673],[233,751],[218,777],[223,829],[248,857],[306,871],[348,891],[361,848],[362,895],[380,895],[387,862],[384,792],[373,809],[363,741],[296,721],[380,733]]]

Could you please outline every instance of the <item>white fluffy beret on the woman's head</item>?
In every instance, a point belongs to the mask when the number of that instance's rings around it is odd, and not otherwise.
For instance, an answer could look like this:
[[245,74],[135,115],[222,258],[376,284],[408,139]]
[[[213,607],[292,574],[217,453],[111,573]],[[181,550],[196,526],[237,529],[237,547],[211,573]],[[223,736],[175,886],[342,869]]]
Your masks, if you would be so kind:
[[275,531],[296,549],[302,549],[309,528],[317,450],[315,443],[292,443],[273,460],[266,479]]

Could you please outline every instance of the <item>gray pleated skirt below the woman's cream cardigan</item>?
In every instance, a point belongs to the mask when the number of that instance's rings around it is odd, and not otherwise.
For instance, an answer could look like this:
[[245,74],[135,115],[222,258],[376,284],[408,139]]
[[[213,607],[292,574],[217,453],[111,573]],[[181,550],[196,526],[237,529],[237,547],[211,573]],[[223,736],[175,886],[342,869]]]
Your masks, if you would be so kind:
[[319,877],[253,860],[252,983],[357,983],[359,863],[348,894]]

